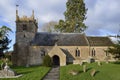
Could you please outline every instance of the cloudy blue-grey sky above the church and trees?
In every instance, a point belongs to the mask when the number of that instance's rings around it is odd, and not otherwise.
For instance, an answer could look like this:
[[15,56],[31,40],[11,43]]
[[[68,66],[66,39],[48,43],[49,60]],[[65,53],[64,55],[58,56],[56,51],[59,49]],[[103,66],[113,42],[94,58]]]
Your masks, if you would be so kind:
[[[15,10],[19,5],[19,16],[31,16],[32,10],[39,20],[39,31],[49,21],[64,19],[67,0],[0,0],[0,26],[6,25],[10,33],[11,47],[15,42]],[[120,0],[85,0],[87,35],[116,35],[120,30]],[[12,49],[12,48],[11,48]]]

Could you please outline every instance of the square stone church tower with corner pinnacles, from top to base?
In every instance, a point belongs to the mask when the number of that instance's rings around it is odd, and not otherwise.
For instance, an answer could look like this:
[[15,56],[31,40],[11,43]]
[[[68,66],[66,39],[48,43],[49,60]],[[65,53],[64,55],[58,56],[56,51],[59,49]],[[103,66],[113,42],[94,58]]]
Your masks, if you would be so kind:
[[34,11],[30,17],[18,15],[18,6],[16,6],[16,42],[12,60],[14,65],[23,66],[29,64],[29,45],[34,38],[38,22],[34,17]]

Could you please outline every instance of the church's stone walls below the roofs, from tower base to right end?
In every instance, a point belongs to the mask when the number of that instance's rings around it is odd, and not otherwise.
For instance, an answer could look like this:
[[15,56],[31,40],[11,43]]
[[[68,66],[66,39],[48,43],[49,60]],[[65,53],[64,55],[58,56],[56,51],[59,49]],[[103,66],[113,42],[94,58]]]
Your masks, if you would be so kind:
[[[49,54],[51,58],[54,55],[57,55],[60,58],[60,65],[66,65],[66,63],[73,63],[75,60],[85,61],[87,60],[91,54],[92,49],[95,49],[96,60],[105,61],[106,52],[104,52],[107,47],[88,47],[88,46],[57,46],[59,49],[53,49],[55,46],[27,46],[27,44],[17,44],[15,47],[13,63],[17,65],[41,65],[43,63],[43,57],[46,54]],[[80,50],[80,56],[75,56],[75,50],[78,48]],[[68,51],[69,55],[64,51]],[[45,55],[43,55],[43,52]],[[24,54],[23,54],[24,53]],[[110,54],[109,54],[110,55]],[[110,55],[112,57],[112,55]],[[113,58],[111,58],[113,60]],[[77,61],[78,62],[78,61]]]

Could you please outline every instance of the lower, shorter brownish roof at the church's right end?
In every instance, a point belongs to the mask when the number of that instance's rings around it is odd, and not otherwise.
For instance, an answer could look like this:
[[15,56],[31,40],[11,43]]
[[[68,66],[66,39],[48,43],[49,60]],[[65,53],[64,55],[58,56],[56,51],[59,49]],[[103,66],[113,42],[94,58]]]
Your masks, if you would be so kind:
[[112,46],[113,43],[108,37],[87,37],[90,46]]

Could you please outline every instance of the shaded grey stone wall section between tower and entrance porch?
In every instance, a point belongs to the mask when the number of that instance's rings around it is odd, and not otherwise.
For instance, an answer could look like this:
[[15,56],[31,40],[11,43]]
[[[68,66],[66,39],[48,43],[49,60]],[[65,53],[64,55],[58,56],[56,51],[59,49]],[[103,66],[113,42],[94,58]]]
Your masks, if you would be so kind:
[[[29,65],[41,65],[44,56],[49,52],[51,46],[30,46],[29,47]],[[44,51],[44,52],[43,52]]]

